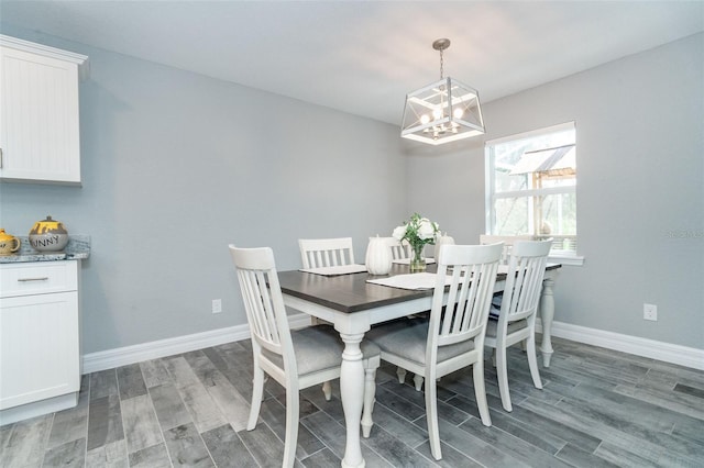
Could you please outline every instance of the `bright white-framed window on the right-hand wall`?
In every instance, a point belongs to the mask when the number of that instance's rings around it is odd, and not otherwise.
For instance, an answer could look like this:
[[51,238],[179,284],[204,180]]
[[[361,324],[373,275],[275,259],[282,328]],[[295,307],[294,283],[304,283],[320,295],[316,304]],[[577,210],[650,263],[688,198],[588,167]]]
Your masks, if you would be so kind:
[[551,256],[576,256],[574,122],[486,143],[486,232],[553,238]]

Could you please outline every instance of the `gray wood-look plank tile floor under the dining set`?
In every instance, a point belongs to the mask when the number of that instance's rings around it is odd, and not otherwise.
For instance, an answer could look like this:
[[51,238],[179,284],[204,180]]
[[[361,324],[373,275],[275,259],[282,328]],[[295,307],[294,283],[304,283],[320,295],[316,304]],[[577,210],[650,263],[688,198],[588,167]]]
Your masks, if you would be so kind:
[[[554,347],[543,390],[512,348],[512,413],[487,358],[492,427],[479,420],[471,370],[443,377],[440,461],[430,456],[422,392],[383,365],[366,466],[704,467],[704,372],[563,339]],[[249,341],[84,376],[77,408],[0,428],[0,466],[278,467],[284,391],[267,383],[248,432],[251,376]],[[297,466],[340,466],[337,383],[330,402],[319,388],[302,392]]]

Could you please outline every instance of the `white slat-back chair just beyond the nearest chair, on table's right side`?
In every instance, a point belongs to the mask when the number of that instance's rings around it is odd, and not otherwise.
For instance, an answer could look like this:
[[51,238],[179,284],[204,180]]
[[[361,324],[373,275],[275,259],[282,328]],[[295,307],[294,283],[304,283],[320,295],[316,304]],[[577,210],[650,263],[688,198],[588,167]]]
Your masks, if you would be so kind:
[[542,389],[536,357],[536,315],[551,246],[551,238],[514,243],[498,319],[490,317],[486,327],[484,343],[495,349],[498,391],[506,411],[513,411],[506,356],[509,346],[525,344],[532,382],[536,388]]

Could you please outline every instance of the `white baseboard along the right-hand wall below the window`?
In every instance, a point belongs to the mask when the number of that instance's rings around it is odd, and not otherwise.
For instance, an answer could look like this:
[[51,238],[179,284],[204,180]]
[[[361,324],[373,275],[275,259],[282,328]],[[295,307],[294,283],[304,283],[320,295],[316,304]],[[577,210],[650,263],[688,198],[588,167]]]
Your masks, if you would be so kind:
[[[540,321],[537,321],[536,330],[538,332],[541,331]],[[552,322],[552,336],[704,370],[704,349],[587,328],[563,322]],[[560,352],[559,347],[557,352]]]

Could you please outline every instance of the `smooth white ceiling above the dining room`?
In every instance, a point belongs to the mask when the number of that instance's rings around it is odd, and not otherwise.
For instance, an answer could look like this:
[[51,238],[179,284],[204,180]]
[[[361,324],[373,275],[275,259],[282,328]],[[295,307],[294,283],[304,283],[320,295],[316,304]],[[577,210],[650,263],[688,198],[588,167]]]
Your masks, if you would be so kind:
[[482,101],[704,31],[704,1],[0,1],[0,21],[399,124],[446,76]]

